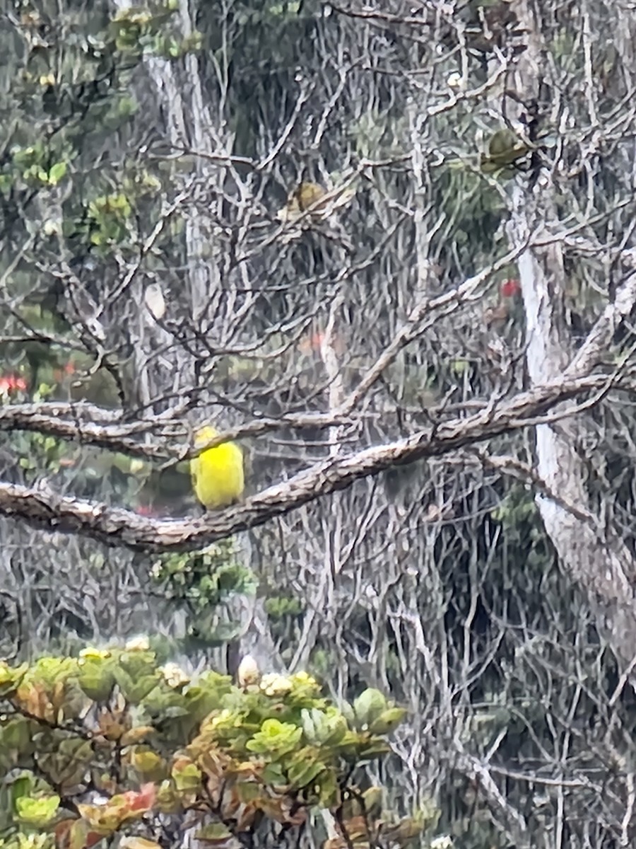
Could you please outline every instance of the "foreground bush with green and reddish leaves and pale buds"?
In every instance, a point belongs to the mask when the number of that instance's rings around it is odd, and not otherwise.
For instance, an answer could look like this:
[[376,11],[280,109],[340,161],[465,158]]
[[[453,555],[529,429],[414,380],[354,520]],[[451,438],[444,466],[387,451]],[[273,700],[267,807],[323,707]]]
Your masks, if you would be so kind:
[[329,808],[338,828],[405,845],[416,814],[382,820],[382,792],[361,792],[355,767],[388,750],[404,711],[377,690],[343,710],[304,672],[242,688],[216,672],[159,666],[148,640],[77,657],[0,662],[0,845],[86,849],[199,824],[219,846],[279,824],[298,828]]

